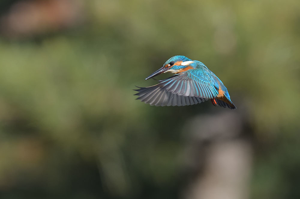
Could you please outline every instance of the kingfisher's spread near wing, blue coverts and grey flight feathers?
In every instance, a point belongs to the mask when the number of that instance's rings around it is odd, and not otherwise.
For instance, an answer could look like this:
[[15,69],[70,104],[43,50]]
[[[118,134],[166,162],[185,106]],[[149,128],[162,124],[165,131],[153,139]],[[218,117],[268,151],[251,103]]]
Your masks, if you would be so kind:
[[210,71],[189,70],[178,76],[161,80],[159,84],[140,88],[141,101],[156,106],[184,106],[217,97],[219,85],[209,76]]

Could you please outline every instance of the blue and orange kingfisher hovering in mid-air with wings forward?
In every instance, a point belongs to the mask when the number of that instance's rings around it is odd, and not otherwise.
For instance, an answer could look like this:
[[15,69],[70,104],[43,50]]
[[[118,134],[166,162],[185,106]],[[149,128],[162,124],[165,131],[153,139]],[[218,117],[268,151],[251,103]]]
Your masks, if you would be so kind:
[[183,55],[168,59],[164,65],[145,80],[161,73],[171,73],[150,87],[138,87],[137,99],[155,106],[185,106],[211,100],[214,106],[235,109],[223,82],[202,62]]

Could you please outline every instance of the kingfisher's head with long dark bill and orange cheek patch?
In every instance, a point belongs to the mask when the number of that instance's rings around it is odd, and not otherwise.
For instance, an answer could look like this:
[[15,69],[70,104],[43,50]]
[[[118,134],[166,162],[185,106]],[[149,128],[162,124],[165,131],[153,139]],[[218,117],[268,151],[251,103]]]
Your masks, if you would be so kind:
[[161,73],[179,74],[189,69],[193,69],[194,67],[191,66],[192,63],[194,62],[191,59],[182,55],[176,55],[168,59],[166,63],[164,63],[163,67],[152,73],[149,77],[146,78],[146,80]]

